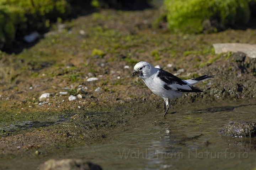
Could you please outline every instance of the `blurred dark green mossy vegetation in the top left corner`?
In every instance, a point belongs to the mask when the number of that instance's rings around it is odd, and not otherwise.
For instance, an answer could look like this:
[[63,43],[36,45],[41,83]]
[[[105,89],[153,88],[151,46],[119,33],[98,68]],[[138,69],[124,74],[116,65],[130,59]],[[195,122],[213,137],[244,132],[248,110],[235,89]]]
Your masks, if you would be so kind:
[[42,30],[49,21],[70,14],[65,0],[1,0],[0,1],[0,50],[11,48],[16,31]]

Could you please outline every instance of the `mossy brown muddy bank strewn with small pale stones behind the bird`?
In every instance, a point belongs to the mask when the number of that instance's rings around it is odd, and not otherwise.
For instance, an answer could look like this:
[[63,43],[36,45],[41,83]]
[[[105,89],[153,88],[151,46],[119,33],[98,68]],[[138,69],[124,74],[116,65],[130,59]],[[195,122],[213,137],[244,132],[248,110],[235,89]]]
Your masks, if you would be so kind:
[[[104,140],[110,128],[125,130],[130,117],[156,109],[161,117],[162,99],[132,77],[139,61],[184,79],[215,75],[196,85],[204,92],[185,94],[172,102],[174,108],[255,100],[256,60],[240,53],[217,55],[212,44],[254,44],[256,30],[172,34],[165,23],[153,27],[158,14],[101,10],[57,23],[20,54],[0,52],[1,155],[53,154],[54,147]],[[114,114],[117,110],[123,116]]]

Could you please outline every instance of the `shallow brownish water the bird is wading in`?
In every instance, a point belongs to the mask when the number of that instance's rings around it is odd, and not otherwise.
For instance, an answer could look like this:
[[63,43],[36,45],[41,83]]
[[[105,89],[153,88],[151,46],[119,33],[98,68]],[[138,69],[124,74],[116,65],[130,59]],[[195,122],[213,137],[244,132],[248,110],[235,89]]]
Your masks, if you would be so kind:
[[62,148],[54,155],[2,157],[0,164],[4,169],[36,169],[50,158],[78,158],[104,170],[255,169],[254,138],[218,133],[230,120],[255,121],[255,110],[256,104],[218,103],[176,108],[165,118],[160,112],[138,114],[129,117],[129,126],[108,129],[101,142]]

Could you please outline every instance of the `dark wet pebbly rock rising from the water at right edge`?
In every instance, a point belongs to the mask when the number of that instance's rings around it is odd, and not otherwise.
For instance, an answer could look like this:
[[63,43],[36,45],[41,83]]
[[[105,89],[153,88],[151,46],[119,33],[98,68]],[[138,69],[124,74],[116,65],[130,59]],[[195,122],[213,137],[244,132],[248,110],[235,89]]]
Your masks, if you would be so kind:
[[256,123],[253,121],[230,121],[220,130],[221,134],[232,137],[255,137]]

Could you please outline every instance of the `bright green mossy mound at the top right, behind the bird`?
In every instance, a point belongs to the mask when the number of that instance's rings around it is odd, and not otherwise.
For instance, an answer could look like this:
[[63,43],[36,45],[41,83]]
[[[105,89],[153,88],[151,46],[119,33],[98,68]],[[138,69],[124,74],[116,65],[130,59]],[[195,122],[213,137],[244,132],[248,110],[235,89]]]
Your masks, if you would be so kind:
[[164,6],[169,29],[174,32],[200,33],[206,19],[232,27],[247,23],[250,17],[246,0],[165,0]]

